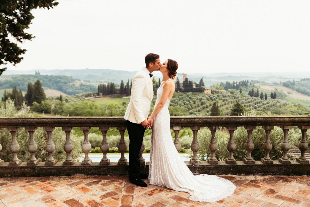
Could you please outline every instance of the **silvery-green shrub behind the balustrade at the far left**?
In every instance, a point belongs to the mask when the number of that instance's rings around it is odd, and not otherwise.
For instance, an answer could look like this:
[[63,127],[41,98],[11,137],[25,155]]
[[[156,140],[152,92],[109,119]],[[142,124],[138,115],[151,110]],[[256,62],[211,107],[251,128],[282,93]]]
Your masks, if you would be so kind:
[[[11,99],[8,99],[6,102],[0,102],[0,117],[33,117],[33,113],[27,111],[25,104],[23,104],[20,111],[17,111],[15,109],[14,102],[12,102]],[[45,150],[47,133],[43,131],[42,127],[39,127],[34,132],[33,137],[35,143],[38,146],[35,157],[40,162],[47,161],[48,153]],[[17,153],[17,156],[23,162],[27,162],[30,159],[30,153],[27,149],[29,139],[29,133],[25,131],[24,128],[19,128],[17,130],[16,140],[20,145],[20,150]],[[9,162],[12,159],[12,153],[10,152],[11,140],[11,133],[7,131],[7,129],[3,128],[2,130],[0,130],[0,143],[2,145],[0,157],[5,162]],[[65,132],[62,131],[61,127],[55,127],[55,130],[52,133],[52,140],[55,144],[55,151],[53,152],[54,159],[57,161],[64,161],[66,158],[66,152],[64,152],[66,135]],[[82,152],[79,138],[73,134],[70,134],[70,140],[73,144],[73,151],[71,152],[71,157],[75,160],[78,160]]]

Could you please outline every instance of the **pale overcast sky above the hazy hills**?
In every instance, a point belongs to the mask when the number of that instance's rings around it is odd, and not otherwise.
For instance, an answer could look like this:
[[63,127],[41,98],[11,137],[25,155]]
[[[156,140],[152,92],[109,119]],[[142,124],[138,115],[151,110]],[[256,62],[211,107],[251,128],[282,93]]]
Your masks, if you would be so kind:
[[310,69],[310,1],[59,0],[33,10],[24,60],[8,69],[136,71],[147,53],[181,73]]

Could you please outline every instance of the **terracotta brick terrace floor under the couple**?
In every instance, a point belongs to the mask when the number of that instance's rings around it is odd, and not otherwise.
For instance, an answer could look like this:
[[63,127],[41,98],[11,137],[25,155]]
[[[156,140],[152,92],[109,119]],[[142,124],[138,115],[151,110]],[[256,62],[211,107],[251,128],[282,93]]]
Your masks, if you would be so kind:
[[0,206],[310,206],[310,177],[221,177],[237,188],[213,203],[194,202],[188,193],[163,187],[136,187],[127,176],[0,178]]

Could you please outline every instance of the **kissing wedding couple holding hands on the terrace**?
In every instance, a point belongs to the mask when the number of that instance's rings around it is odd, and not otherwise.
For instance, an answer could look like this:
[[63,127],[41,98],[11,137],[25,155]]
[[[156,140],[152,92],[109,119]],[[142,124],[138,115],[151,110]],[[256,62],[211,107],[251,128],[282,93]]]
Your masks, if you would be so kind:
[[[129,135],[129,180],[137,186],[149,184],[188,192],[189,199],[215,202],[226,198],[235,190],[235,185],[216,175],[193,175],[176,150],[170,133],[168,106],[175,91],[173,81],[178,69],[175,60],[167,59],[161,64],[159,55],[145,56],[145,67],[132,81],[131,96],[125,113]],[[153,99],[152,72],[162,73],[162,84],[157,90],[154,110],[149,116]],[[146,127],[152,128],[149,174],[140,174],[139,151]]]

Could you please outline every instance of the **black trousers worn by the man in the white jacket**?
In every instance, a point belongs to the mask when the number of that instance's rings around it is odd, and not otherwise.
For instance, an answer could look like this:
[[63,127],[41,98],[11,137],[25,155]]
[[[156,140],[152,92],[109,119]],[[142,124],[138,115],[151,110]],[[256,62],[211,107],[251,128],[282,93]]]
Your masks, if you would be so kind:
[[145,128],[141,124],[126,121],[129,135],[129,179],[136,179],[140,173],[139,152],[142,146]]

